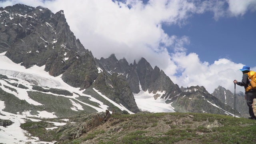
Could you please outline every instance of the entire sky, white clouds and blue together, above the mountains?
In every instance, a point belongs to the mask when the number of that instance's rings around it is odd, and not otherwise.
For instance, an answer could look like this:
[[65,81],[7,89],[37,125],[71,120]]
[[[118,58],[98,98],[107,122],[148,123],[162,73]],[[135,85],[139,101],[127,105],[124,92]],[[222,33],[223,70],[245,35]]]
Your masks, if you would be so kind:
[[242,66],[256,71],[256,0],[0,0],[17,3],[64,10],[96,58],[144,57],[179,86],[233,90]]

